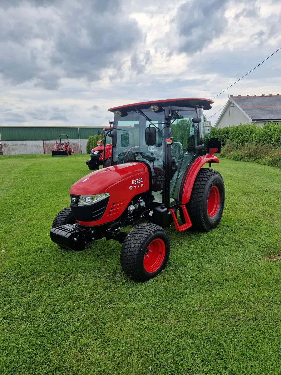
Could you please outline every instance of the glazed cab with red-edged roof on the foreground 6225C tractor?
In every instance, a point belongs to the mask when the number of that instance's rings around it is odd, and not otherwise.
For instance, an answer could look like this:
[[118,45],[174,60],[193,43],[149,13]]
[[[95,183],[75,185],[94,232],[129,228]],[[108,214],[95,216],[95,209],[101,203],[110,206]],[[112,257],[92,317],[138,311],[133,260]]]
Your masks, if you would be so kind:
[[206,155],[203,108],[207,99],[170,99],[109,109],[114,113],[112,165],[141,162],[151,174],[151,200],[166,207],[181,202],[188,165]]

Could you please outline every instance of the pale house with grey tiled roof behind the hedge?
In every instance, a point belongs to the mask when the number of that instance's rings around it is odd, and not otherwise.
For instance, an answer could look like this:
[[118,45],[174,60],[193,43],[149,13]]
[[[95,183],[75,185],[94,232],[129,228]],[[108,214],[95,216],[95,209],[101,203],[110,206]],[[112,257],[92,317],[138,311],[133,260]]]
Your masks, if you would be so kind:
[[281,122],[281,95],[230,95],[215,127],[256,123],[263,126],[267,122]]

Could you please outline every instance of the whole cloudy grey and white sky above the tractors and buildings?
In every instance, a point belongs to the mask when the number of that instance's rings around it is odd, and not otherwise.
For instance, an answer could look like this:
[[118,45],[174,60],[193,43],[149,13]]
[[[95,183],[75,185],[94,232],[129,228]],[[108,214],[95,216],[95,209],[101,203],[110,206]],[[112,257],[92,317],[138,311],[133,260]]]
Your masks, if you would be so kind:
[[[115,105],[213,98],[280,46],[281,0],[0,0],[0,124],[106,125]],[[277,93],[281,51],[205,114]]]

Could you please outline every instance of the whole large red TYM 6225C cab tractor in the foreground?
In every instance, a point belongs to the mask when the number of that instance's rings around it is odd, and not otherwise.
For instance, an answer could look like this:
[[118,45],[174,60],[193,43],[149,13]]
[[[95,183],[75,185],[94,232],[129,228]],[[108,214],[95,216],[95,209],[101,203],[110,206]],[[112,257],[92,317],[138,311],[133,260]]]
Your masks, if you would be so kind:
[[[70,207],[54,219],[51,240],[76,251],[91,242],[122,243],[123,271],[147,281],[166,267],[170,239],[179,232],[216,228],[224,208],[224,182],[211,169],[220,141],[205,142],[203,109],[209,99],[183,98],[111,108],[111,166],[92,172],[70,188]],[[104,152],[105,152],[104,141]],[[209,163],[209,168],[202,168]],[[177,213],[181,218],[178,222]],[[122,231],[133,225],[128,233]]]

